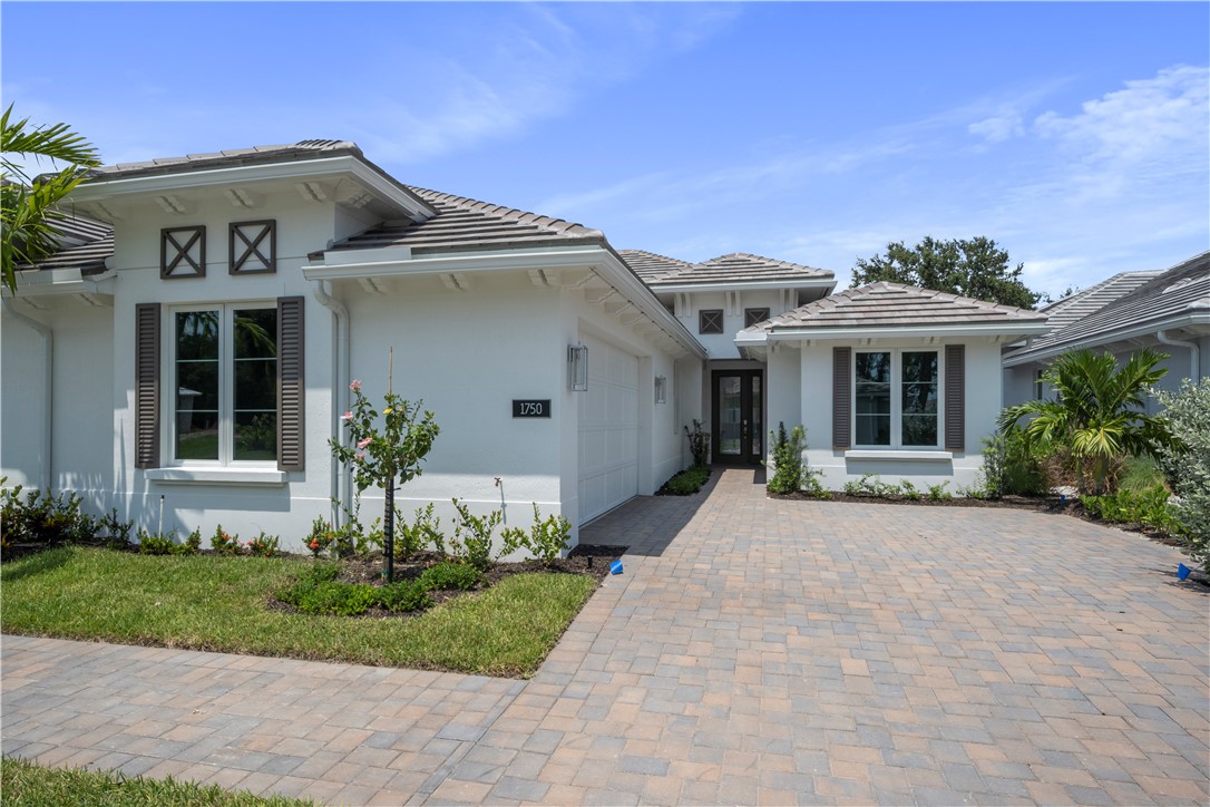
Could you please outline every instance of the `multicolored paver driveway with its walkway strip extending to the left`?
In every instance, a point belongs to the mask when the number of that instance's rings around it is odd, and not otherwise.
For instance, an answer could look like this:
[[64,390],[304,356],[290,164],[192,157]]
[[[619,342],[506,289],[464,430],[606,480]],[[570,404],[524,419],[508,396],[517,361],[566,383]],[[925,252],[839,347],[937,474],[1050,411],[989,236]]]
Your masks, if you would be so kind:
[[1206,803],[1210,598],[1022,511],[645,498],[530,681],[5,638],[4,750],[339,803]]

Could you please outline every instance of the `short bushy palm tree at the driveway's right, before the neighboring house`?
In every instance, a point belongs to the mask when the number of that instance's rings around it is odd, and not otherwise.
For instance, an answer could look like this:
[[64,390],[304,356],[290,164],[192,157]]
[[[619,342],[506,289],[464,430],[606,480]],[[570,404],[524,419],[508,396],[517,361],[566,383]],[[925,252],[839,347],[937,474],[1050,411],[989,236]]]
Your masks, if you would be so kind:
[[1176,444],[1168,419],[1148,415],[1146,409],[1151,386],[1168,371],[1156,367],[1165,358],[1141,350],[1119,367],[1111,353],[1065,353],[1042,375],[1055,397],[1009,407],[1001,413],[1001,432],[1032,416],[1025,425],[1030,448],[1043,454],[1070,450],[1081,466],[1081,492],[1087,492],[1088,466],[1093,492],[1105,492],[1114,460],[1124,455],[1158,456],[1160,449]]

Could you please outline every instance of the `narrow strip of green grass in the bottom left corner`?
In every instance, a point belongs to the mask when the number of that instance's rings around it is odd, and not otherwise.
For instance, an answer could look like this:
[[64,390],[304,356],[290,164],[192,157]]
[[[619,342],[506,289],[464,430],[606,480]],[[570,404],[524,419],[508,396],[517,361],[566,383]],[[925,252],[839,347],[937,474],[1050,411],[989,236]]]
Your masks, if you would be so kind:
[[189,805],[194,807],[305,807],[312,801],[272,796],[264,799],[247,791],[230,792],[218,785],[196,785],[167,779],[127,779],[121,773],[64,771],[33,765],[24,760],[0,760],[0,790],[5,805]]

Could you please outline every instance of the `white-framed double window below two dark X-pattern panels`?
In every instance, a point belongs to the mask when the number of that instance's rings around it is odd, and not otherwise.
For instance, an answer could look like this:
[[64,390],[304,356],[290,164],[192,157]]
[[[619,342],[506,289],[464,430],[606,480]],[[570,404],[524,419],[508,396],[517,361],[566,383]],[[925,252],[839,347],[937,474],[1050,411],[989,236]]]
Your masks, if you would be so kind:
[[177,310],[172,323],[172,459],[276,461],[277,306]]

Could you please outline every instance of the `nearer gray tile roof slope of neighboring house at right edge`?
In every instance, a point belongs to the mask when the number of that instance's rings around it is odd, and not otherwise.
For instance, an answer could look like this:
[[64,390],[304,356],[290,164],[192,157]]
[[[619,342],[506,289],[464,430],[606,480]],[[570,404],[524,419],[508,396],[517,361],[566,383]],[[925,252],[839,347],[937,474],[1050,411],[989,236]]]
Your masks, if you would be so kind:
[[1159,329],[1187,316],[1204,318],[1210,324],[1210,252],[1153,275],[1100,310],[1035,339],[1028,347],[1007,353],[1006,359],[1050,354],[1079,345],[1104,345],[1116,341],[1114,334],[1120,332],[1137,332],[1148,325]]

